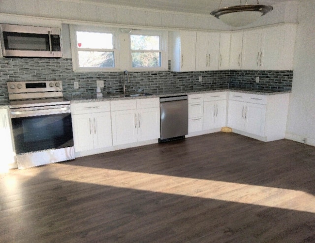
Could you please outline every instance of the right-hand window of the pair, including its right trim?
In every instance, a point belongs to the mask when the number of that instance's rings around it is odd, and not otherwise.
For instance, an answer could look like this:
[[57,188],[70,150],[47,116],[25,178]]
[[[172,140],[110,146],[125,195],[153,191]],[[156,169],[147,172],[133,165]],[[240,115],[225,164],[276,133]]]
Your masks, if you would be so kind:
[[130,34],[132,69],[166,69],[163,47],[166,38],[162,33],[138,31]]

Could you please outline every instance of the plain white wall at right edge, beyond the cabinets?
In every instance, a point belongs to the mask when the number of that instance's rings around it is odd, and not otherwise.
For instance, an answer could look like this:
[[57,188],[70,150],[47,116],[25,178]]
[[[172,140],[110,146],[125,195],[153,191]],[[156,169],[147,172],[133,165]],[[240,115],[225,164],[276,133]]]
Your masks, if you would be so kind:
[[286,138],[315,146],[315,1],[299,4]]

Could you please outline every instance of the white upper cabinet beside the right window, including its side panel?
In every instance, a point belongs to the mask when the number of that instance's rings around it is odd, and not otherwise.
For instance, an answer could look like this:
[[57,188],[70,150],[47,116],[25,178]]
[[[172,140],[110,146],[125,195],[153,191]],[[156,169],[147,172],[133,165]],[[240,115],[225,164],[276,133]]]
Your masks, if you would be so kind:
[[175,72],[195,71],[196,68],[196,32],[172,32],[172,63]]

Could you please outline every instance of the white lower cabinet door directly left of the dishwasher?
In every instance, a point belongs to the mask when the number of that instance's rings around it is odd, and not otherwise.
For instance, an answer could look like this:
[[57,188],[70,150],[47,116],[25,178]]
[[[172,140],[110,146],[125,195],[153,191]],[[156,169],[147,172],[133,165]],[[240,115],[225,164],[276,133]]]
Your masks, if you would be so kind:
[[158,107],[138,110],[138,141],[158,139],[159,120]]

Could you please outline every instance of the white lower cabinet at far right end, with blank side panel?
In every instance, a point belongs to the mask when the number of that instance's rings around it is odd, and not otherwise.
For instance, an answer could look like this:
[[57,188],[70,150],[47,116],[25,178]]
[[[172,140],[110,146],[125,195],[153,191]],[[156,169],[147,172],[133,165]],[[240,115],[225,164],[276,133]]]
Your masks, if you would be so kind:
[[227,126],[234,133],[265,142],[283,139],[288,104],[289,94],[230,92]]

